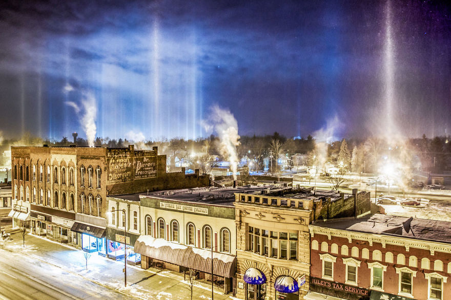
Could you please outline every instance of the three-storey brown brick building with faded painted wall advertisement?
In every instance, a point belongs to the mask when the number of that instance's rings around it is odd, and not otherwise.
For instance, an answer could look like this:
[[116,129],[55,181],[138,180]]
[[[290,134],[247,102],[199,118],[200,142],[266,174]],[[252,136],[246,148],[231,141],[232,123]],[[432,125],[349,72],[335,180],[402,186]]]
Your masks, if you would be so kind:
[[157,147],[11,147],[11,164],[13,225],[101,255],[107,195],[209,184],[198,172],[167,174]]

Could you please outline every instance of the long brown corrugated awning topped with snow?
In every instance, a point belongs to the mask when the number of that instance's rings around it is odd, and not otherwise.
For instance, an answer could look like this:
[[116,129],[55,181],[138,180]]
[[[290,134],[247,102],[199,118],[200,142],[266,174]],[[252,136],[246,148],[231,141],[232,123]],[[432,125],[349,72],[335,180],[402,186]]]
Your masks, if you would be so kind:
[[[135,253],[149,258],[211,273],[211,251],[192,248],[154,239],[150,235],[141,235],[135,242]],[[221,277],[233,277],[235,274],[235,256],[213,252],[213,274]]]

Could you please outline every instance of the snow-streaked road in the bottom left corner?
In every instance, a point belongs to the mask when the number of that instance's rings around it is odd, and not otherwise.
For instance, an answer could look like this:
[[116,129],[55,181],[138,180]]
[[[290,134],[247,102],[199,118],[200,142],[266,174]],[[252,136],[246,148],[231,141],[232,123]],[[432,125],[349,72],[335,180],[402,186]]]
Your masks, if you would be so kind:
[[20,252],[0,249],[0,299],[122,299],[93,283]]

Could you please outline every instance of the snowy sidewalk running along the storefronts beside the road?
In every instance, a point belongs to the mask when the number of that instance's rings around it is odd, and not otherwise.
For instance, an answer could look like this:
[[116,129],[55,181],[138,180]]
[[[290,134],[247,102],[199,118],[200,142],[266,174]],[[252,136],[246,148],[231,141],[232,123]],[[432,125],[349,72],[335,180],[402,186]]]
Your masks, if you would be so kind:
[[[98,254],[92,254],[86,260],[84,251],[49,241],[45,238],[27,234],[25,248],[22,247],[22,234],[11,234],[12,241],[8,241],[4,249],[22,252],[38,261],[45,262],[66,272],[76,274],[124,294],[125,298],[138,299],[190,299],[188,281],[183,281],[180,273],[169,270],[149,269],[127,265],[127,287],[124,287],[124,262],[116,262]],[[233,299],[215,290],[214,298],[218,300]],[[211,299],[211,286],[196,282],[193,287],[193,299]]]

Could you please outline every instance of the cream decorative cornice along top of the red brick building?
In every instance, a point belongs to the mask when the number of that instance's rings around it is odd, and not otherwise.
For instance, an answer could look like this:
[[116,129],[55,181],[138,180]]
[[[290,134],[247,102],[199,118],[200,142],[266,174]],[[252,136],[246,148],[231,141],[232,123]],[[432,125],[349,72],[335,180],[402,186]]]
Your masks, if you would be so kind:
[[309,232],[312,238],[315,234],[321,234],[326,235],[327,239],[329,240],[331,240],[332,237],[338,237],[347,239],[349,243],[352,243],[352,240],[367,241],[370,246],[373,246],[373,243],[380,243],[382,245],[382,248],[385,248],[386,245],[389,244],[404,247],[406,252],[408,252],[409,249],[413,247],[417,249],[429,250],[430,255],[434,255],[435,251],[451,253],[451,245],[449,244],[434,241],[414,240],[407,237],[396,237],[393,235],[348,231],[314,225],[309,225]]

